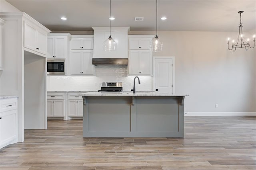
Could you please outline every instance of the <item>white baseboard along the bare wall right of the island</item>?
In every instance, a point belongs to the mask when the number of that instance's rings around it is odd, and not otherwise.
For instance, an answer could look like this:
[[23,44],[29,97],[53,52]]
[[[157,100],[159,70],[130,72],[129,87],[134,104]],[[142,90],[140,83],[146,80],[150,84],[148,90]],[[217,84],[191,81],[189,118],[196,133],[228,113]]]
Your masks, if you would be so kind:
[[184,116],[256,116],[256,112],[184,112]]

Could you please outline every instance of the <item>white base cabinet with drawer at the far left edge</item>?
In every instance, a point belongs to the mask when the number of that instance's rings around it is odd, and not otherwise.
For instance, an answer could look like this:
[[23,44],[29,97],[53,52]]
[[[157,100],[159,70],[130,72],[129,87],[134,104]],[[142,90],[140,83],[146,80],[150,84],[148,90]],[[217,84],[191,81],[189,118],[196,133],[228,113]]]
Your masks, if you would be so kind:
[[18,142],[18,100],[0,99],[0,148]]

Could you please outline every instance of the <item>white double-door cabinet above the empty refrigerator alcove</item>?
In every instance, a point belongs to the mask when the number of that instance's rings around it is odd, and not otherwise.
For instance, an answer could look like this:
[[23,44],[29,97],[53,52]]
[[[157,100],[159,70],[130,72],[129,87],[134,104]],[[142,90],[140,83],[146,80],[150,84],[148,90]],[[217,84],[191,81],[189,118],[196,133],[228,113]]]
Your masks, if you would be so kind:
[[24,50],[45,57],[47,54],[48,32],[40,28],[36,23],[24,21]]

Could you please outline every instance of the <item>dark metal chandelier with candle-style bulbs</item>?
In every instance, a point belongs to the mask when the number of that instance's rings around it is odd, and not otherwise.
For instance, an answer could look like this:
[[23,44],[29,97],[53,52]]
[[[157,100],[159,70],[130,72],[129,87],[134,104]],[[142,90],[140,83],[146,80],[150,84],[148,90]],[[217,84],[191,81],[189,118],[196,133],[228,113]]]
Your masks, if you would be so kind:
[[244,37],[243,37],[243,25],[241,23],[241,14],[244,11],[238,11],[238,14],[240,14],[240,24],[239,24],[239,34],[238,34],[238,38],[236,41],[232,41],[232,46],[231,48],[229,48],[229,38],[228,38],[228,49],[232,50],[232,51],[236,51],[236,48],[245,48],[245,50],[247,51],[249,49],[249,47],[252,49],[255,46],[255,35],[253,35],[253,47],[251,47],[249,41],[250,39],[246,39],[244,41]]

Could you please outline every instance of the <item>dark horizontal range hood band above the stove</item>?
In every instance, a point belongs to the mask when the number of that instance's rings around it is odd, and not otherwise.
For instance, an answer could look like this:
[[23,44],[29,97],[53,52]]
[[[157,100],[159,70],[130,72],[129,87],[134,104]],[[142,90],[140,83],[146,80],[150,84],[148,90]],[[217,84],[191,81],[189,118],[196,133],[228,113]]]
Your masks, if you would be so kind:
[[94,65],[128,65],[127,58],[92,58]]

